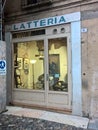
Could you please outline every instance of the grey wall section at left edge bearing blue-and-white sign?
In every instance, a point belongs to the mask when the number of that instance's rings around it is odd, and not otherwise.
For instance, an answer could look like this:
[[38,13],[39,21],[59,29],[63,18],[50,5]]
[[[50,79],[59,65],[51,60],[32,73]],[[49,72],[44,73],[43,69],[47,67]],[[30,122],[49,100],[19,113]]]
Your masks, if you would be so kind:
[[6,43],[0,41],[0,113],[6,110]]

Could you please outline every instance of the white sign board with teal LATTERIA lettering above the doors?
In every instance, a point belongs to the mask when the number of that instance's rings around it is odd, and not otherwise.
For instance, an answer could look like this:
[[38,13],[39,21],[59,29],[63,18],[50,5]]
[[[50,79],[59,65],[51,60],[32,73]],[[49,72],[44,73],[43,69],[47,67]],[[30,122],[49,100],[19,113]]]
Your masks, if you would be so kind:
[[54,25],[60,25],[60,24],[79,21],[79,20],[80,20],[80,12],[76,12],[76,13],[71,13],[71,14],[66,14],[61,16],[55,16],[55,17],[49,17],[49,18],[44,18],[44,19],[39,19],[34,21],[13,24],[12,31],[54,26]]

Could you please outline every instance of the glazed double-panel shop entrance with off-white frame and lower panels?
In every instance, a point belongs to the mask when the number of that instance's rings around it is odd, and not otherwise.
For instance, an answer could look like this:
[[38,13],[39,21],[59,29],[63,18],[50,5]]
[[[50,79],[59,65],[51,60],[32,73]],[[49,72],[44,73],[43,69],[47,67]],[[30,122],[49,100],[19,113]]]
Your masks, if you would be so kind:
[[71,109],[70,35],[13,40],[13,103]]

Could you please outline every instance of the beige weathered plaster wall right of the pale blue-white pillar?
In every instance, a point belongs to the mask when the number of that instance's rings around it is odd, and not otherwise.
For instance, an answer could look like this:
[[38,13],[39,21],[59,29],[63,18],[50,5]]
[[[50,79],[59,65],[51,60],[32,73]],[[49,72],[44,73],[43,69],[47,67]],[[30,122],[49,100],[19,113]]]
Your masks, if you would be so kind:
[[98,18],[82,21],[83,112],[98,117]]

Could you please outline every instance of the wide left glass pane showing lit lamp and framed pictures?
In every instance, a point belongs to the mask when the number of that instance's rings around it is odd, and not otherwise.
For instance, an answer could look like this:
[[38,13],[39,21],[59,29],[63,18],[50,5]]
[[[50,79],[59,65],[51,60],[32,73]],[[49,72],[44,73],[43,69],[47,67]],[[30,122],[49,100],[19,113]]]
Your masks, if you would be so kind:
[[14,43],[14,87],[44,89],[44,42]]

